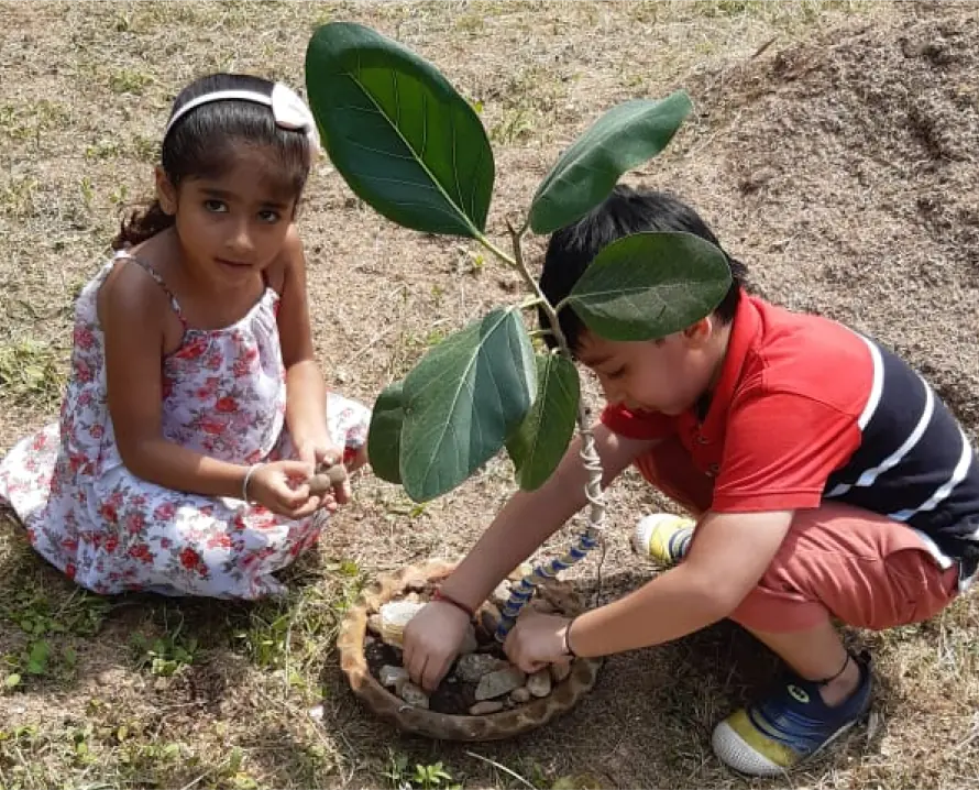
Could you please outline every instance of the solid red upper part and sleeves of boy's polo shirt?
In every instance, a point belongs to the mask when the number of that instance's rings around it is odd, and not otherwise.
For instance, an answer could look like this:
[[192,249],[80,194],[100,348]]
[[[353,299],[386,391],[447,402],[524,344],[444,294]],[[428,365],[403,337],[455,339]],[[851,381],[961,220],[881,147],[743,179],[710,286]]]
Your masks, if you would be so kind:
[[855,332],[744,296],[706,418],[607,406],[602,421],[635,439],[678,435],[716,478],[715,513],[818,507],[829,474],[860,446],[873,361]]

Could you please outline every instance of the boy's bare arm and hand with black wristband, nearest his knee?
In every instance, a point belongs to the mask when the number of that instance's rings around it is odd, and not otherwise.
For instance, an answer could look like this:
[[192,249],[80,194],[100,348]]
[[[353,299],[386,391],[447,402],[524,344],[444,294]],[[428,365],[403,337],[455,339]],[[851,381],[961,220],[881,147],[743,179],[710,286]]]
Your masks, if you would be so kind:
[[[579,656],[606,656],[679,639],[728,616],[755,588],[792,523],[792,511],[707,513],[682,564],[634,593],[574,621],[569,635]],[[510,633],[506,650],[526,670],[558,660],[569,622],[529,617]]]

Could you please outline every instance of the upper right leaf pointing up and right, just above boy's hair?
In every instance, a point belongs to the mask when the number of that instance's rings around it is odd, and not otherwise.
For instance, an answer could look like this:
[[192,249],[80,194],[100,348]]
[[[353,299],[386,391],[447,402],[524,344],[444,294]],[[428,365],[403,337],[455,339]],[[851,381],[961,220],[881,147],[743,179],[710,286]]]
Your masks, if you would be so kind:
[[584,217],[612,193],[626,171],[656,156],[672,140],[692,105],[678,90],[666,99],[635,99],[602,116],[558,160],[530,206],[535,233],[552,233]]

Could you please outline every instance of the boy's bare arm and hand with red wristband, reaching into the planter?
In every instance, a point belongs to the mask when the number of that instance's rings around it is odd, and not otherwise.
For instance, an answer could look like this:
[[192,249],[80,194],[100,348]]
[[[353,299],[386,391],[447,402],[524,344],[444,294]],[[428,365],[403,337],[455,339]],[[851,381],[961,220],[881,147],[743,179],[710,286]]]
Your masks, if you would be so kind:
[[[627,439],[604,425],[594,427],[595,448],[604,470],[603,487],[656,441]],[[476,608],[493,589],[529,557],[564,522],[587,503],[587,482],[575,438],[554,474],[534,492],[518,492],[443,582],[442,592]],[[405,629],[405,667],[411,679],[433,689],[446,674],[459,650],[469,618],[444,602],[429,604]]]

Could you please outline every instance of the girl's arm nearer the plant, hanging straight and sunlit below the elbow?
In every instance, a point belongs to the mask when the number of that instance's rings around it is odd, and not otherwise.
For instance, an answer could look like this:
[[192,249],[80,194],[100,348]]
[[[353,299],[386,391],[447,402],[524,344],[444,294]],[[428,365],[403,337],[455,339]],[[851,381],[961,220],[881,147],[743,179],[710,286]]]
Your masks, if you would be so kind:
[[304,461],[316,463],[323,454],[342,458],[327,428],[327,386],[316,362],[306,295],[306,256],[295,228],[284,250],[278,331],[286,366],[286,425]]

